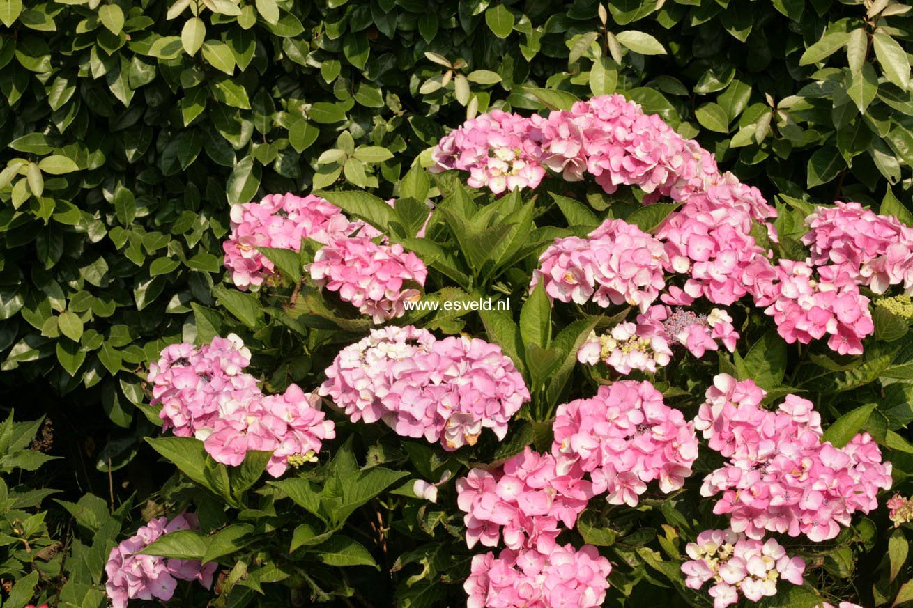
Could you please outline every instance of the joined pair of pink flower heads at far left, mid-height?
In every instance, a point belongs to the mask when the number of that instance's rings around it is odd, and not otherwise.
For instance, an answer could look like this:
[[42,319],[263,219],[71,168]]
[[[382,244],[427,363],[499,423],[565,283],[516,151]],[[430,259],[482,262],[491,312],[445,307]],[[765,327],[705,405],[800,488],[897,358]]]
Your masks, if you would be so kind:
[[295,384],[284,395],[265,395],[244,368],[250,351],[229,334],[199,349],[193,344],[166,346],[150,365],[152,404],[162,404],[163,430],[194,436],[216,462],[238,466],[248,450],[272,451],[267,471],[273,477],[289,464],[313,459],[321,441],[335,436],[333,423],[318,409],[320,398]]

